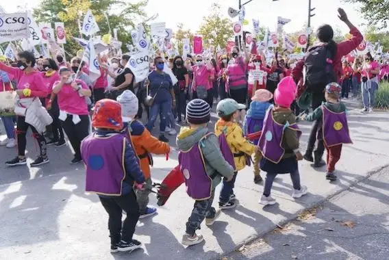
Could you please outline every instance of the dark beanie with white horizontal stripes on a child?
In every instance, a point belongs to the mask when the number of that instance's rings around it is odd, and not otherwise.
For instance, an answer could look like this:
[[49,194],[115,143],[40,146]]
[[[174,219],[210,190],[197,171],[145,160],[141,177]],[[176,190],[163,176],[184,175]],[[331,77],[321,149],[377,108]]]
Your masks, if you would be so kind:
[[202,99],[193,99],[186,105],[186,120],[193,125],[201,125],[210,122],[210,105]]

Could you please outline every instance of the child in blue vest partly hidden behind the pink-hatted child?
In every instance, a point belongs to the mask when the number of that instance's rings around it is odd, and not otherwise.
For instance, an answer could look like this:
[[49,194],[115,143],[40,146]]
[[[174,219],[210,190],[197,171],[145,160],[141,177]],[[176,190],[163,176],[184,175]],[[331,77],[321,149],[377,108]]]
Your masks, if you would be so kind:
[[[273,99],[273,94],[271,94],[270,91],[264,89],[255,91],[254,96],[251,98],[250,109],[247,111],[246,118],[244,118],[244,135],[262,130],[266,111],[271,106],[271,103],[268,101],[271,99]],[[253,143],[258,145],[259,140],[260,138],[253,140]],[[262,177],[260,175],[261,159],[262,153],[257,151],[254,155],[254,183],[262,182]]]

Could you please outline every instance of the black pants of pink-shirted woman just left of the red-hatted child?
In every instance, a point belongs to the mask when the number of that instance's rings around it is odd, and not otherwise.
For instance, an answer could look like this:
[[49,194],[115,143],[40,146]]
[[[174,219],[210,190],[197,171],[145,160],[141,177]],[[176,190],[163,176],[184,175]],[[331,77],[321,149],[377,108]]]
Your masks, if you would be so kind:
[[89,116],[79,116],[81,121],[75,125],[73,123],[73,116],[68,115],[66,120],[64,120],[63,127],[68,139],[71,142],[73,150],[75,152],[75,158],[81,159],[81,141],[84,140],[89,135]]

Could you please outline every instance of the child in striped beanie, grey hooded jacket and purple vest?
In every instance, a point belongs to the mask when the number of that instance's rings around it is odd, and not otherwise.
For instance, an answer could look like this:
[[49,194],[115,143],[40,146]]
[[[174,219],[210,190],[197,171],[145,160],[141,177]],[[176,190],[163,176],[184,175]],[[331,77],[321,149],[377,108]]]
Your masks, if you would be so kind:
[[186,222],[186,233],[182,244],[192,246],[203,241],[196,235],[201,222],[211,226],[220,211],[212,207],[215,187],[221,177],[231,181],[234,169],[225,161],[219,148],[218,138],[208,131],[210,105],[201,99],[193,99],[186,107],[186,120],[189,127],[181,127],[177,136],[178,161],[186,182],[186,192],[194,198],[194,209]]

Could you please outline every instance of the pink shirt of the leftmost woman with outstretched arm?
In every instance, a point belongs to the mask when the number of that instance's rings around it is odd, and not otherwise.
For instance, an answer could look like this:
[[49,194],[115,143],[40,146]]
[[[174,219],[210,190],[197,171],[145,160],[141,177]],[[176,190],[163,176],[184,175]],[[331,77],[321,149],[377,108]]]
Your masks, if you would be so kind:
[[[42,76],[38,71],[33,71],[32,73],[25,74],[23,70],[7,66],[3,64],[3,62],[0,62],[0,70],[3,70],[14,77],[14,79],[18,82],[18,86],[16,87],[18,90],[24,90],[25,88],[29,88],[31,90],[31,96],[27,97],[47,96],[47,88],[45,86],[45,83],[43,82]],[[22,99],[23,97],[26,96],[21,96]]]

